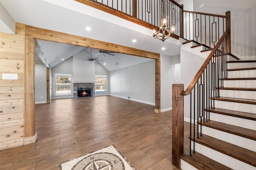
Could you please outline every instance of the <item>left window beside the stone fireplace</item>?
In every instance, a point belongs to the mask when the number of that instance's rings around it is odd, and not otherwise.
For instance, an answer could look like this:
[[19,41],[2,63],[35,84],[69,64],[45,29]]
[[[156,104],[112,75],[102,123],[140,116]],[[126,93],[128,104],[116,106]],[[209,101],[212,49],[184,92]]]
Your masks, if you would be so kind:
[[72,74],[55,74],[55,92],[57,95],[71,94]]

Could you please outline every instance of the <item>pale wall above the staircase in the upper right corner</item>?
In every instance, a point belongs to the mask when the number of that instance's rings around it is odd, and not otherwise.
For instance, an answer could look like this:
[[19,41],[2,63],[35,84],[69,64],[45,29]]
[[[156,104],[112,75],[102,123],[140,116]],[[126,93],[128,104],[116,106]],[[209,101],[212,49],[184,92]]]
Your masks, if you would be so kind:
[[[199,8],[200,4],[204,7]],[[256,55],[255,0],[194,0],[194,11],[211,14],[231,14],[231,51],[241,56]]]

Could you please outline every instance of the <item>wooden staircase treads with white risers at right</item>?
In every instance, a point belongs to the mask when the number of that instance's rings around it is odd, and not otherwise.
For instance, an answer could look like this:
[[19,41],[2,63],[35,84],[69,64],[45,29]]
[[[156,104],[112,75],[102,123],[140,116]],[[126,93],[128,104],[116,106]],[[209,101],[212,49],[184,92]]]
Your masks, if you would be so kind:
[[192,134],[195,151],[180,156],[182,170],[256,170],[256,57],[228,58],[228,78],[204,109],[208,120],[197,121],[202,136]]

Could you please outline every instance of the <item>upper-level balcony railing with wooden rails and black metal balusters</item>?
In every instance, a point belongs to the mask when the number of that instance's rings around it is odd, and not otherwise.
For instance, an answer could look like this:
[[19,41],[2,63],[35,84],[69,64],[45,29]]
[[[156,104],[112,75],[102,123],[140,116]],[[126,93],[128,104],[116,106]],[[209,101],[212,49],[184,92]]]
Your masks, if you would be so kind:
[[[172,37],[204,44],[213,48],[226,30],[226,17],[183,10],[183,5],[174,0],[76,0],[94,8],[104,10],[150,29],[158,29],[162,15],[167,27],[174,27]],[[164,8],[163,8],[164,7]]]

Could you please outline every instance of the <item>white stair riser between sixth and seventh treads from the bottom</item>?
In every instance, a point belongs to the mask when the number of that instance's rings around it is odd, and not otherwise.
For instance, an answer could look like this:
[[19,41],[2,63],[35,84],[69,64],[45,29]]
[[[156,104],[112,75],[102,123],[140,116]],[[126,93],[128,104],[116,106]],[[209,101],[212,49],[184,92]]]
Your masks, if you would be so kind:
[[224,87],[255,88],[256,80],[224,80]]

